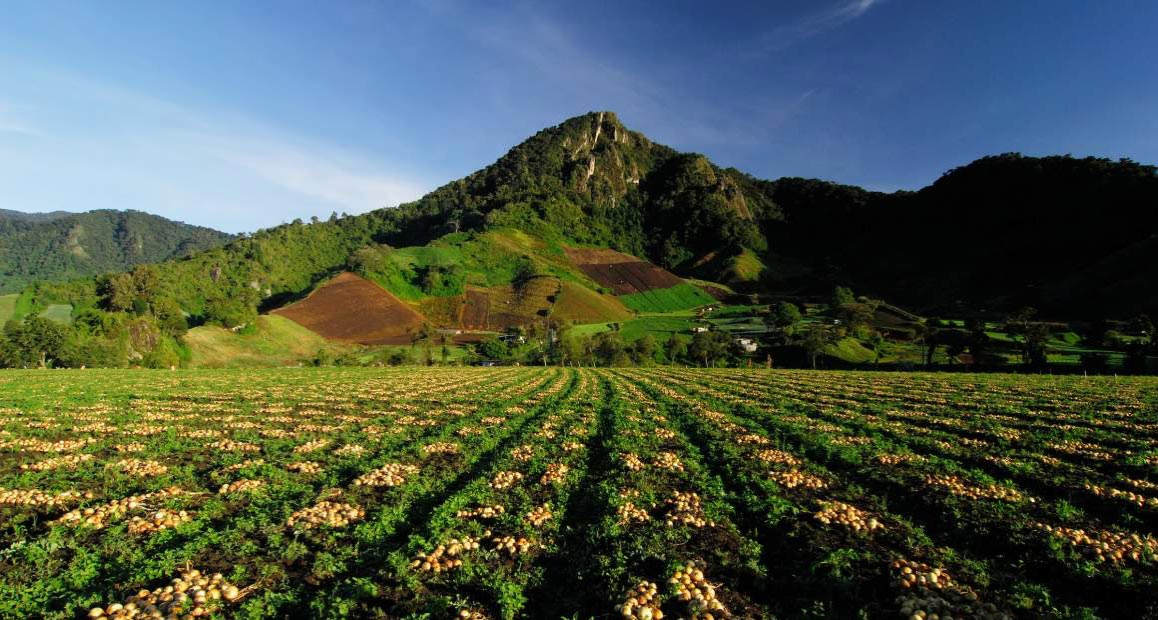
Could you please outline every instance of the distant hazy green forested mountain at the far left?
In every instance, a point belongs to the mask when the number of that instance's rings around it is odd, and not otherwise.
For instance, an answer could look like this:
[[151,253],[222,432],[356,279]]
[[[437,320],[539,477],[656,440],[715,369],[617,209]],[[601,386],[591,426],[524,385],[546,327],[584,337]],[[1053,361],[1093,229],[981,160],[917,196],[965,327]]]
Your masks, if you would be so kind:
[[34,280],[124,271],[226,243],[232,235],[140,211],[0,210],[0,293]]

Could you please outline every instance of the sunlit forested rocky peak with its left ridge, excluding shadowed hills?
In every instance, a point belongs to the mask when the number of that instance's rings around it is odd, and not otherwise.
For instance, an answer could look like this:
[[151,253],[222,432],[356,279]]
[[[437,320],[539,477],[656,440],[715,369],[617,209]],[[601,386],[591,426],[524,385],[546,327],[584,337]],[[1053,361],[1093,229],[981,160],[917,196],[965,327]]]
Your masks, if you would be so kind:
[[[162,263],[157,277],[185,312],[213,319],[217,311],[207,308],[221,305],[232,314],[244,314],[239,305],[249,312],[277,307],[352,267],[353,253],[367,246],[423,246],[445,235],[459,235],[450,243],[461,245],[486,231],[515,229],[556,250],[562,242],[608,247],[680,270],[704,251],[763,249],[761,225],[777,217],[750,177],[655,145],[614,114],[592,112],[538,132],[413,203],[258,231]],[[85,306],[91,291],[76,283],[41,297]]]

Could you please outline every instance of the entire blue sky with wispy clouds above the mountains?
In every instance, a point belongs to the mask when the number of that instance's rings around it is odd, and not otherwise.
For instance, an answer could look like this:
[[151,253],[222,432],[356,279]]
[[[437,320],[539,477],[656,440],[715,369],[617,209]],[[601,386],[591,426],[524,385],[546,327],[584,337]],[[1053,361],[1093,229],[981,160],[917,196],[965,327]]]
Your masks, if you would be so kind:
[[1156,31],[1131,1],[16,0],[0,209],[364,212],[588,110],[880,190],[1010,151],[1158,162]]

